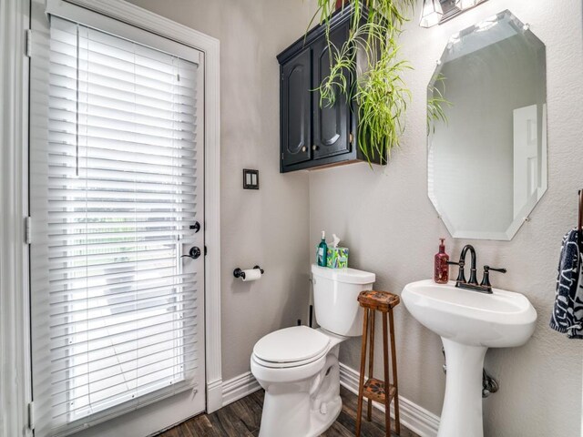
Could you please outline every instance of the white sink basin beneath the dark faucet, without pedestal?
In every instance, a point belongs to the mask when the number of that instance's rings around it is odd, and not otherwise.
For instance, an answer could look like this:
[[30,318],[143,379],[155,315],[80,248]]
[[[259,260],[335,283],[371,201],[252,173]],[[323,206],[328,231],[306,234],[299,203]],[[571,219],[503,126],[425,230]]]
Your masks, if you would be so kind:
[[486,348],[526,343],[537,311],[520,293],[492,291],[456,289],[454,281],[440,285],[429,279],[405,285],[401,297],[413,317],[442,338]]

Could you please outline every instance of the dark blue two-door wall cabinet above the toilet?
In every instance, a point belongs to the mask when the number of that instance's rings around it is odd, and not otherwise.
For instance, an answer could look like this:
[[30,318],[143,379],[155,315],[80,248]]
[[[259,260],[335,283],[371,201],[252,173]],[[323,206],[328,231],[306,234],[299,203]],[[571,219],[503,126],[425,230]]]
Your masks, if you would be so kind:
[[[333,46],[341,48],[347,40],[351,17],[349,7],[332,16]],[[339,93],[332,107],[320,104],[317,88],[330,74],[331,66],[324,30],[323,25],[315,27],[277,56],[281,69],[281,173],[365,159],[356,144],[355,103]],[[355,80],[352,73],[344,72],[350,78],[349,89]]]

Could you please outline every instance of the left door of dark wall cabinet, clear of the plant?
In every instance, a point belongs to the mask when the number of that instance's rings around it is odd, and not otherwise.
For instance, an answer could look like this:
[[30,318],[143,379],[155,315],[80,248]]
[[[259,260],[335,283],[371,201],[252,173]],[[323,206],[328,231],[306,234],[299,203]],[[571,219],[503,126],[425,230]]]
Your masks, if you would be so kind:
[[312,50],[281,66],[281,164],[312,158]]

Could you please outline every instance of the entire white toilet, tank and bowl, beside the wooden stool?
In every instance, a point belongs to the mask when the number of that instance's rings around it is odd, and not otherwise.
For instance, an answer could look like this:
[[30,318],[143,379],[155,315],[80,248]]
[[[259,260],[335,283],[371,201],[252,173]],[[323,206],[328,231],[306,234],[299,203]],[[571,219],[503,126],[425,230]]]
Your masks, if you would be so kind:
[[358,294],[374,273],[312,265],[318,329],[284,328],[255,343],[251,373],[265,390],[260,437],[312,437],[340,414],[340,343],[363,332]]

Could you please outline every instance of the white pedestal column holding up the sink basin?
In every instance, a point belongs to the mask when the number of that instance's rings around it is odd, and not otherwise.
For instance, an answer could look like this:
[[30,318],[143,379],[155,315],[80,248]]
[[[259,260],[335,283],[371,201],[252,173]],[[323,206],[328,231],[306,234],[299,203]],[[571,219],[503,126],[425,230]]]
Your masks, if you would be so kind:
[[447,373],[437,437],[484,437],[482,370],[487,348],[441,340]]

